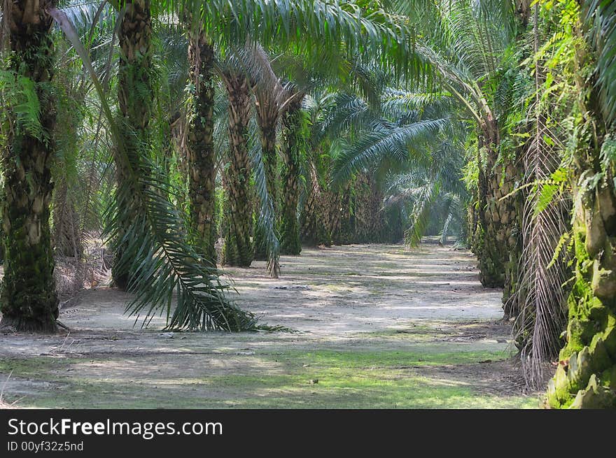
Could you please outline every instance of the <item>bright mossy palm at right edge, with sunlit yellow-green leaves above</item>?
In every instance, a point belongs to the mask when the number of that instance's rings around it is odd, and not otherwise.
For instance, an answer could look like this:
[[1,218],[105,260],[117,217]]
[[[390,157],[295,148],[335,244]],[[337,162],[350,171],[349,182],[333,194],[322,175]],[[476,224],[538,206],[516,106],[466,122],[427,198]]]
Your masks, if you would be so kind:
[[554,17],[556,43],[570,50],[561,59],[571,89],[561,91],[575,101],[575,277],[566,345],[547,388],[553,408],[616,408],[615,8],[613,2],[579,0],[561,5]]

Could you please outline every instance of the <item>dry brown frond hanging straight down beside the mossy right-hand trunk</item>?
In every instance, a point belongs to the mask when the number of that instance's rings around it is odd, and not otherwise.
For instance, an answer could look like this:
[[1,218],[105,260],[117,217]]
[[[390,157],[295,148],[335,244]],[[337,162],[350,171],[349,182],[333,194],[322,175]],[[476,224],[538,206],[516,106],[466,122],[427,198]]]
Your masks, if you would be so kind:
[[[532,123],[531,138],[524,150],[524,208],[521,217],[522,252],[517,287],[506,308],[519,310],[514,336],[528,387],[542,384],[544,363],[558,355],[561,332],[566,327],[568,277],[566,259],[558,250],[561,235],[568,231],[570,208],[563,196],[549,192],[552,173],[559,168],[561,141],[550,129],[554,97],[544,92],[545,64],[539,55],[538,5],[534,7],[534,92],[526,120]],[[549,82],[548,82],[549,83]],[[548,192],[546,192],[548,191]],[[546,198],[546,196],[548,196]],[[513,306],[512,304],[513,303]]]

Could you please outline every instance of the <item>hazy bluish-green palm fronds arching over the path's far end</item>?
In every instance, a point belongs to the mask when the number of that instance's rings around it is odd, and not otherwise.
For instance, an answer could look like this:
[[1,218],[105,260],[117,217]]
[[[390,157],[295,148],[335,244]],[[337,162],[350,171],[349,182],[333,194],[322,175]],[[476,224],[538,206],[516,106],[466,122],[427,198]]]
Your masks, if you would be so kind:
[[405,239],[411,246],[419,243],[437,209],[444,213],[444,225],[454,218],[461,222],[454,210],[461,210],[459,203],[466,200],[460,180],[463,148],[458,140],[465,131],[458,132],[459,125],[448,119],[456,113],[451,97],[386,88],[379,112],[368,110],[361,99],[345,96],[342,100],[346,102],[334,106],[323,125],[336,132],[336,126],[352,124],[356,136],[335,156],[334,183],[349,182],[353,176],[361,183],[367,172],[381,177],[388,196],[381,200],[379,212],[400,204],[410,207]]

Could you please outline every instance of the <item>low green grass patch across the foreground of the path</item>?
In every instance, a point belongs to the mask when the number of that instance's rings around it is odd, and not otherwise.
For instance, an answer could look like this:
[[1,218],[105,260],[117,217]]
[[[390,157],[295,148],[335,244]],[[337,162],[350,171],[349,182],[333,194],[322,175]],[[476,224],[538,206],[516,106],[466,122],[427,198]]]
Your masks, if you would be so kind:
[[[451,344],[449,344],[451,347]],[[23,407],[55,408],[533,408],[535,397],[496,396],[481,392],[472,382],[447,380],[438,371],[426,369],[451,364],[472,364],[485,359],[504,359],[507,352],[459,350],[446,345],[417,345],[408,351],[288,350],[257,352],[246,358],[251,371],[212,375],[203,366],[183,377],[184,364],[198,364],[195,355],[161,359],[173,364],[177,373],[153,374],[141,380],[121,380],[117,375],[85,375],[79,366],[90,358],[36,357],[5,359],[4,374],[31,379],[27,392],[5,393],[10,402],[25,396]],[[225,361],[221,355],[221,362]],[[264,362],[262,373],[255,366]],[[95,359],[94,363],[116,363],[125,359]],[[74,368],[73,371],[67,371]],[[432,375],[430,375],[432,374]],[[104,378],[97,378],[99,376]],[[318,380],[311,383],[311,380]],[[41,381],[50,386],[38,386]]]

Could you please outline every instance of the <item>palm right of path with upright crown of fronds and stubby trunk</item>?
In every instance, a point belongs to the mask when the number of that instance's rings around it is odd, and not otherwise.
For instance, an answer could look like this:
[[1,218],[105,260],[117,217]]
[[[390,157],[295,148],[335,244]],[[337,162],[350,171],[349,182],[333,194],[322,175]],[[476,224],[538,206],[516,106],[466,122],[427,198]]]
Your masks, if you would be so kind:
[[[526,27],[528,2],[441,0],[396,2],[426,36],[418,45],[440,76],[440,84],[464,108],[477,129],[477,205],[470,206],[472,250],[480,280],[504,287],[503,303],[514,290],[520,254],[519,194],[513,194],[521,173],[517,152],[503,132],[498,87],[511,65],[516,31]],[[519,11],[521,26],[514,11]],[[506,198],[505,198],[506,196]],[[503,244],[507,247],[502,249]]]

